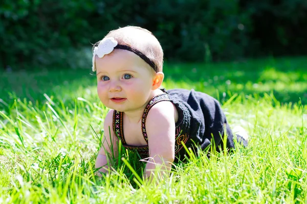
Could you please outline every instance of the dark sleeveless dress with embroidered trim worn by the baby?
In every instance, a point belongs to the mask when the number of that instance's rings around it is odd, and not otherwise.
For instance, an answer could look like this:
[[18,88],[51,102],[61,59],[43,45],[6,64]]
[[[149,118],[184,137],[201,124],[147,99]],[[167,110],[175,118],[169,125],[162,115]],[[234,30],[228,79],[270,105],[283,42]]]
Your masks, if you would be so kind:
[[[161,90],[164,93],[151,98],[142,116],[142,133],[146,142],[148,141],[145,129],[147,114],[153,105],[167,100],[171,101],[178,111],[175,136],[175,162],[183,160],[184,156],[187,155],[182,143],[187,148],[191,147],[196,154],[198,149],[206,150],[211,145],[214,145],[217,151],[219,151],[219,145],[223,149],[222,138],[224,138],[225,129],[227,133],[226,147],[228,149],[234,148],[233,134],[220,103],[215,98],[194,90]],[[137,150],[142,158],[148,157],[148,145],[131,146],[126,144],[123,134],[123,112],[114,110],[113,130],[125,148]],[[244,146],[247,145],[247,141],[242,137],[237,136],[237,138],[240,139]],[[195,148],[195,146],[200,148]]]

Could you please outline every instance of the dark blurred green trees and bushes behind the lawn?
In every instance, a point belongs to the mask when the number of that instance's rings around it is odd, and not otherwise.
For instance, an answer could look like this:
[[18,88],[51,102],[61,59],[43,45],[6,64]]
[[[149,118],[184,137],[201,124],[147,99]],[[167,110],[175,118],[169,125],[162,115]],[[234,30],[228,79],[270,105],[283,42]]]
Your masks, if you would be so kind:
[[306,0],[3,0],[0,66],[90,68],[91,44],[125,25],[155,34],[169,61],[307,54]]

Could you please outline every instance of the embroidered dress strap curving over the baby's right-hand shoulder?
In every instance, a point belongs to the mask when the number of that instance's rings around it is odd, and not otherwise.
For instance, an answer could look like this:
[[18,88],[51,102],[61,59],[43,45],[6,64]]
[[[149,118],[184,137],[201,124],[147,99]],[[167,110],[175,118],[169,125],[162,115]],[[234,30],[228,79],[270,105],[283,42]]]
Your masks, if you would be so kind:
[[146,133],[146,118],[148,115],[149,110],[153,107],[153,105],[159,103],[160,101],[170,101],[171,99],[169,98],[169,95],[167,93],[162,93],[160,95],[153,96],[147,106],[145,107],[143,116],[142,116],[142,134],[145,139],[145,141],[148,144],[148,138],[147,138],[147,133]]

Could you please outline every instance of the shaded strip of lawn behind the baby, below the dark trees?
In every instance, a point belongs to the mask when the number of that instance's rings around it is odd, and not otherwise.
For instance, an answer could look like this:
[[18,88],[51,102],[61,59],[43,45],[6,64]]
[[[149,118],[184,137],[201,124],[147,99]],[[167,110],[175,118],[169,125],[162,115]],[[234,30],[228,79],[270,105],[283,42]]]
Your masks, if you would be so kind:
[[[295,103],[301,98],[306,104],[306,64],[306,57],[216,64],[166,63],[164,84],[167,89],[193,88],[218,99],[227,99],[228,93],[261,96],[273,92],[281,103]],[[99,102],[96,76],[90,69],[0,72],[0,87],[0,98],[8,105],[16,98],[26,98],[38,106],[48,100],[73,106],[77,97]],[[0,100],[0,110],[4,103]]]

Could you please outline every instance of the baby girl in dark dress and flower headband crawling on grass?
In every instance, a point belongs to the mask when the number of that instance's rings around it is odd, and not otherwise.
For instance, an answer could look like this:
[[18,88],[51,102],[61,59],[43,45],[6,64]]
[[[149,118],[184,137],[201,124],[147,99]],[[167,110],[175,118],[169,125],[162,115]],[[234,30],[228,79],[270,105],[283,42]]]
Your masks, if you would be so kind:
[[174,161],[183,160],[184,145],[196,152],[209,147],[232,149],[234,138],[247,145],[244,129],[233,136],[213,97],[194,90],[160,88],[163,50],[146,29],[124,27],[109,32],[94,45],[93,71],[97,72],[99,99],[110,109],[96,160],[98,175],[109,170],[112,157],[117,158],[119,140],[148,158],[144,177],[158,166],[169,170]]

